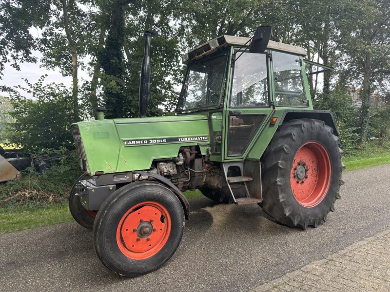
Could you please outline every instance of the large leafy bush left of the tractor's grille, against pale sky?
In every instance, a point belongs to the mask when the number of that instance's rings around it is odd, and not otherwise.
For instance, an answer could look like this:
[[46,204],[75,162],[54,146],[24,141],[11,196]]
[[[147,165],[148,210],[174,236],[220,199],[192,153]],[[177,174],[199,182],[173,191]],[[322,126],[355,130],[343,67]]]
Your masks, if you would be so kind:
[[7,124],[4,136],[29,153],[44,148],[74,147],[70,124],[77,121],[72,120],[72,93],[63,84],[43,85],[44,79],[41,76],[35,84],[24,79],[28,87],[17,87],[33,99],[16,90],[10,92],[14,108],[10,115],[15,121]]

